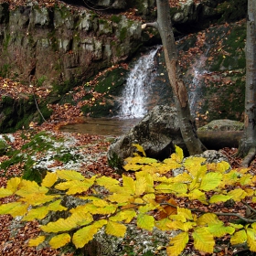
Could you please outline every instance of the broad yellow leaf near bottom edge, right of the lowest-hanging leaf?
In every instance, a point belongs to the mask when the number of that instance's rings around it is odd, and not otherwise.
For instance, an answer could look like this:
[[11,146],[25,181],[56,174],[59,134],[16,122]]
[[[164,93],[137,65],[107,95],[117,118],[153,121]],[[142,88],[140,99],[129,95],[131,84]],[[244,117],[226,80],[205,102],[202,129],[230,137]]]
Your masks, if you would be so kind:
[[199,251],[213,253],[215,240],[207,228],[198,228],[193,233],[194,246]]

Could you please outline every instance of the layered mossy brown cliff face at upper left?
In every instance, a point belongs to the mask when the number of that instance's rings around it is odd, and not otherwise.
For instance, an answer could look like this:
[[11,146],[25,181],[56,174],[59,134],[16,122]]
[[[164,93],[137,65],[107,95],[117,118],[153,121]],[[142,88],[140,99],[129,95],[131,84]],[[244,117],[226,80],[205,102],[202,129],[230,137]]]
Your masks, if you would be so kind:
[[68,6],[0,5],[0,76],[46,84],[82,80],[127,59],[140,45],[141,24]]

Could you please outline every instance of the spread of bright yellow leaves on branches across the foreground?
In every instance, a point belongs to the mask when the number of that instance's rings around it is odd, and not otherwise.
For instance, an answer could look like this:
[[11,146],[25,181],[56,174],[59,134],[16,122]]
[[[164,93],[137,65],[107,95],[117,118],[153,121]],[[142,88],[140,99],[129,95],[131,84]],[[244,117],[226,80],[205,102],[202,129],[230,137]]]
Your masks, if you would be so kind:
[[[13,177],[0,188],[0,197],[16,195],[17,199],[2,204],[0,214],[40,221],[53,212],[67,213],[67,218],[56,214],[58,220],[41,225],[41,235],[29,240],[29,246],[44,242],[59,248],[72,242],[82,248],[103,227],[109,235],[124,237],[127,224],[135,221],[141,229],[179,230],[166,246],[167,255],[179,255],[188,241],[193,241],[196,250],[213,253],[216,240],[222,237],[229,238],[231,245],[247,243],[256,251],[251,207],[256,202],[256,177],[249,168],[231,170],[227,162],[207,163],[197,156],[184,159],[179,147],[160,163],[146,157],[141,146],[134,146],[140,154],[127,158],[124,165],[126,171],[135,171],[134,177],[123,175],[121,181],[108,176],[85,178],[76,171],[58,170],[48,172],[41,185]],[[176,168],[184,171],[171,176]],[[80,204],[68,208],[64,197],[77,197]],[[222,212],[219,206],[229,201],[234,208],[246,206],[251,217]]]

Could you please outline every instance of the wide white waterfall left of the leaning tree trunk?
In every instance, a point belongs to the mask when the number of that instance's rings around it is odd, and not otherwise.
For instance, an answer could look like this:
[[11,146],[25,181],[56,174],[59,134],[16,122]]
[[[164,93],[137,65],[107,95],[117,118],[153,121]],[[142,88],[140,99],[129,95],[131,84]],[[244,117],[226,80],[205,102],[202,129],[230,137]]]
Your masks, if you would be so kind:
[[146,103],[155,78],[155,54],[158,48],[138,59],[131,70],[123,90],[120,118],[142,118],[147,112]]

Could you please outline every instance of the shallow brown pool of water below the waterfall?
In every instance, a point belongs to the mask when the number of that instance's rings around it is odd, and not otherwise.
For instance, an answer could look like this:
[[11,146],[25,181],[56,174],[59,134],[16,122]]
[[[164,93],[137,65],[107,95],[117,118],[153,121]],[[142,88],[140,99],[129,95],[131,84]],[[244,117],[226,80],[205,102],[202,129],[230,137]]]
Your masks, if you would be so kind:
[[86,118],[84,123],[62,126],[61,132],[89,133],[91,135],[120,136],[128,132],[140,119]]

